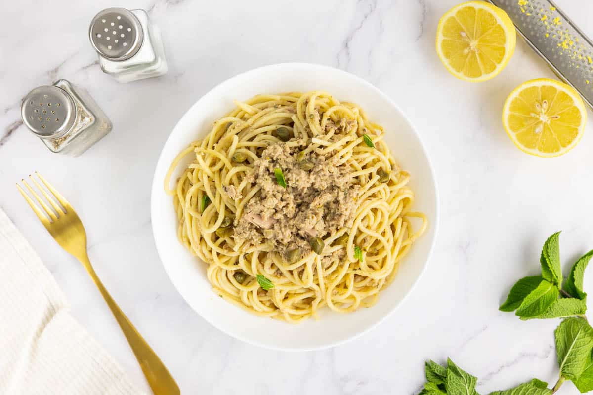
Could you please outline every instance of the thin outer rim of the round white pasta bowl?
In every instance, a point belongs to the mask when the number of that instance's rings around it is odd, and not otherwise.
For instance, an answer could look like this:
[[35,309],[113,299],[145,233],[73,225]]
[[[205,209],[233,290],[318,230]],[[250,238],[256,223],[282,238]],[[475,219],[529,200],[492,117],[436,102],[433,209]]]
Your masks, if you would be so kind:
[[[343,339],[338,339],[338,340],[332,341],[332,342],[326,342],[323,345],[307,346],[307,347],[277,346],[277,345],[270,345],[270,344],[267,344],[264,342],[256,341],[254,339],[243,336],[240,332],[229,332],[224,327],[219,326],[215,322],[215,320],[212,320],[209,317],[206,317],[206,316],[203,316],[202,314],[200,314],[199,311],[197,311],[196,309],[193,308],[192,303],[190,303],[190,301],[187,300],[186,296],[179,291],[179,289],[177,288],[176,282],[173,279],[173,276],[171,275],[170,270],[168,269],[168,266],[165,265],[165,263],[164,263],[165,261],[162,258],[164,256],[164,251],[161,251],[162,247],[160,246],[160,243],[157,240],[157,232],[155,230],[155,222],[153,220],[154,214],[159,209],[156,206],[157,199],[155,198],[155,195],[157,194],[157,192],[164,192],[164,191],[162,191],[162,179],[157,179],[157,177],[160,176],[160,174],[158,174],[159,170],[162,168],[162,166],[164,166],[162,164],[162,161],[165,159],[164,158],[165,147],[167,147],[170,140],[173,138],[173,134],[176,131],[177,127],[181,123],[183,123],[183,121],[186,117],[189,117],[190,113],[192,113],[193,108],[197,107],[200,104],[200,102],[204,101],[205,99],[208,99],[209,96],[215,94],[216,92],[218,92],[218,91],[224,92],[227,85],[233,84],[235,82],[235,80],[237,80],[237,79],[245,78],[246,75],[249,75],[251,73],[254,73],[254,74],[262,73],[262,72],[265,72],[266,70],[273,70],[273,69],[278,69],[278,68],[295,68],[295,67],[311,68],[311,69],[317,69],[317,70],[324,69],[329,72],[346,75],[346,76],[348,76],[348,78],[356,79],[356,80],[358,80],[358,82],[360,84],[364,85],[365,88],[371,89],[371,91],[373,91],[376,95],[378,95],[379,97],[381,97],[382,99],[387,101],[391,105],[391,107],[393,107],[395,110],[397,110],[398,113],[401,115],[401,118],[406,122],[407,126],[409,126],[410,130],[412,130],[413,133],[416,135],[416,138],[417,138],[419,146],[420,146],[420,150],[422,151],[424,157],[426,158],[426,165],[428,166],[429,173],[431,174],[432,186],[433,186],[434,195],[435,195],[434,196],[434,198],[435,198],[435,203],[434,203],[435,218],[433,220],[431,220],[431,223],[429,224],[429,226],[433,228],[432,240],[430,240],[430,243],[429,243],[428,251],[426,253],[426,259],[423,262],[422,269],[420,269],[419,274],[416,276],[413,283],[410,284],[409,290],[401,298],[401,300],[398,301],[396,304],[394,304],[394,306],[387,313],[383,314],[383,316],[379,317],[377,320],[375,320],[375,322],[366,326],[364,329],[359,330],[358,332],[355,332],[352,335],[347,336]],[[167,166],[165,166],[165,168],[168,168],[168,164],[167,164]],[[171,132],[169,133],[169,136],[167,137],[167,140],[165,141],[165,143],[162,144],[162,149],[158,156],[157,163],[154,168],[154,175],[152,178],[151,208],[150,208],[150,210],[151,210],[152,237],[154,239],[154,243],[157,248],[157,253],[158,253],[159,259],[161,261],[161,265],[164,267],[165,272],[167,273],[167,277],[171,281],[171,284],[173,284],[173,287],[176,289],[177,293],[181,296],[181,298],[183,298],[183,300],[185,301],[185,303],[187,303],[187,305],[190,307],[190,309],[192,309],[197,315],[202,317],[202,319],[205,320],[206,322],[208,322],[210,325],[212,325],[216,329],[220,330],[221,332],[227,334],[228,336],[231,336],[232,338],[238,339],[240,341],[246,342],[251,345],[256,345],[256,346],[259,346],[262,348],[266,348],[266,349],[273,349],[273,350],[277,350],[277,351],[291,351],[291,352],[315,351],[315,350],[333,348],[335,346],[342,345],[344,343],[352,341],[353,339],[358,338],[359,336],[363,335],[364,333],[371,331],[372,329],[374,329],[375,327],[380,325],[382,322],[384,322],[384,320],[386,320],[388,317],[392,316],[394,314],[394,312],[396,310],[398,310],[400,308],[400,306],[406,302],[406,300],[409,298],[410,294],[412,294],[413,291],[416,289],[417,284],[420,282],[420,279],[424,276],[424,274],[426,272],[426,268],[428,267],[429,262],[431,261],[432,253],[435,249],[436,237],[438,235],[439,221],[440,221],[439,192],[438,192],[438,182],[437,182],[436,175],[435,175],[435,169],[432,165],[430,156],[428,155],[428,150],[426,149],[426,144],[423,142],[422,137],[420,137],[420,134],[417,132],[417,130],[413,126],[412,122],[410,122],[410,119],[407,117],[407,115],[401,110],[401,108],[387,94],[382,92],[379,88],[372,85],[370,82],[366,81],[365,79],[363,79],[353,73],[342,70],[342,69],[337,69],[337,68],[333,68],[331,66],[326,66],[326,65],[320,65],[318,63],[308,63],[308,62],[272,63],[269,65],[259,66],[254,69],[246,70],[244,72],[238,73],[234,76],[231,76],[230,78],[225,79],[224,81],[220,82],[219,84],[216,84],[215,86],[213,86],[213,88],[209,89],[208,92],[206,92],[200,98],[198,98],[192,105],[190,105],[190,107],[183,113],[183,115],[181,115],[181,118],[179,118],[179,120],[177,121],[177,123],[175,124],[173,129],[171,129]]]

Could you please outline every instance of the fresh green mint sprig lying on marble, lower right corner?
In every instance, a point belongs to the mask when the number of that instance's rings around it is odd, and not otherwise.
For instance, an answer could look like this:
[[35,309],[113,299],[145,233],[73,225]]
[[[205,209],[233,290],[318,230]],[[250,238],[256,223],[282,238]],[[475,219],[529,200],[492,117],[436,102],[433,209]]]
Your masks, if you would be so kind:
[[[586,293],[583,289],[585,268],[593,250],[579,258],[569,277],[563,281],[560,265],[560,232],[546,240],[541,250],[541,275],[521,278],[511,288],[502,311],[515,311],[522,320],[561,318],[554,331],[559,379],[553,388],[534,378],[508,390],[489,395],[551,395],[566,380],[581,393],[593,391],[593,327],[585,317]],[[433,361],[425,364],[426,384],[419,395],[479,395],[477,379],[447,359],[447,366]]]

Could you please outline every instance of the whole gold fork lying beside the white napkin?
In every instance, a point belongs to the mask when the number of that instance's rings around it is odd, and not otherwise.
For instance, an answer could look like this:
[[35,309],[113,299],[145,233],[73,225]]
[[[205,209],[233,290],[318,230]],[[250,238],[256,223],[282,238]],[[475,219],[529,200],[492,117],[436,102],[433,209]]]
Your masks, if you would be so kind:
[[[165,367],[165,365],[161,362],[161,359],[158,358],[157,354],[152,351],[151,346],[146,343],[142,335],[138,333],[138,330],[132,325],[129,319],[127,319],[126,314],[117,306],[113,298],[109,295],[109,292],[103,286],[103,283],[97,277],[93,266],[91,266],[91,262],[88,259],[87,253],[87,233],[84,230],[84,226],[82,226],[81,220],[78,218],[78,215],[74,211],[74,208],[68,203],[68,201],[50,184],[46,181],[45,178],[42,177],[39,173],[35,172],[37,177],[43,182],[43,184],[47,187],[52,195],[48,194],[44,188],[34,179],[31,175],[29,178],[33,183],[39,188],[42,192],[43,196],[52,205],[50,208],[43,200],[39,197],[37,192],[27,184],[27,181],[22,179],[23,184],[27,187],[27,190],[31,192],[31,195],[37,200],[37,202],[43,207],[43,210],[47,214],[46,217],[42,210],[35,204],[35,202],[29,197],[27,192],[21,188],[20,185],[17,184],[18,190],[21,192],[27,203],[31,206],[39,220],[42,221],[43,225],[46,227],[50,235],[56,239],[56,242],[66,252],[71,253],[74,255],[78,261],[87,269],[88,274],[93,279],[97,288],[103,295],[107,306],[111,309],[111,313],[117,320],[120,328],[122,328],[123,334],[126,336],[127,342],[130,343],[132,347],[132,351],[136,355],[136,359],[140,366],[142,367],[142,371],[146,376],[146,380],[148,380],[148,384],[151,386],[152,391],[157,394],[179,394],[179,387],[177,383]],[[60,207],[56,200],[62,205]]]

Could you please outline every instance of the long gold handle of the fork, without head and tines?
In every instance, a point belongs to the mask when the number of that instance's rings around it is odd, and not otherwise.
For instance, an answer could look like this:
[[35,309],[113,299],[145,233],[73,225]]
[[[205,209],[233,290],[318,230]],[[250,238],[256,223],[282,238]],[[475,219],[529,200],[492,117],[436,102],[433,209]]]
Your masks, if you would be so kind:
[[99,288],[101,295],[103,295],[107,306],[111,309],[111,313],[113,313],[119,327],[122,328],[122,332],[126,336],[130,347],[132,347],[132,351],[134,352],[134,355],[136,355],[136,359],[138,359],[138,363],[142,368],[142,372],[144,372],[148,384],[152,388],[152,392],[155,395],[180,394],[177,383],[162,363],[161,359],[158,358],[151,346],[146,343],[142,335],[138,333],[136,327],[133,326],[130,320],[126,317],[126,314],[123,313],[122,309],[117,306],[117,303],[111,298],[111,295],[107,292],[101,280],[99,280],[97,273],[95,273],[95,270],[88,259],[88,255],[85,254],[85,256],[77,256],[76,258],[78,258],[84,268],[87,269],[88,274],[93,279],[95,285],[97,285],[97,288]]

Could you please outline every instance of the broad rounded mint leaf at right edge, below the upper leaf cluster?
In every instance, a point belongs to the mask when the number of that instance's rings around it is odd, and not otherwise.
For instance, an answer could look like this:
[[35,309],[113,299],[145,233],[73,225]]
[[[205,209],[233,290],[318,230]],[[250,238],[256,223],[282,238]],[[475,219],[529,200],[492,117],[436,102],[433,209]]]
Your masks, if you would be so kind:
[[576,381],[585,370],[593,348],[593,329],[582,318],[564,320],[554,332],[560,375]]

